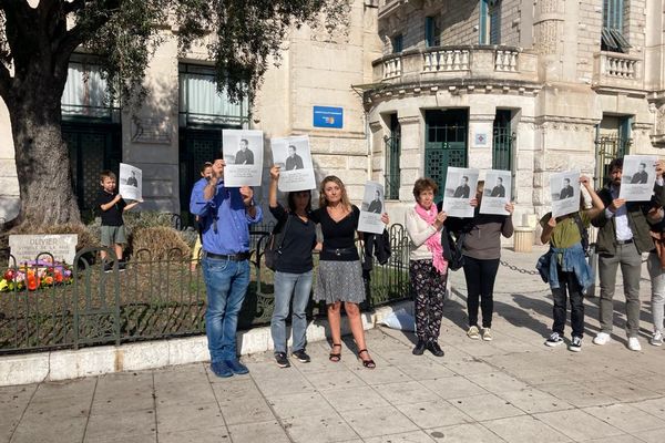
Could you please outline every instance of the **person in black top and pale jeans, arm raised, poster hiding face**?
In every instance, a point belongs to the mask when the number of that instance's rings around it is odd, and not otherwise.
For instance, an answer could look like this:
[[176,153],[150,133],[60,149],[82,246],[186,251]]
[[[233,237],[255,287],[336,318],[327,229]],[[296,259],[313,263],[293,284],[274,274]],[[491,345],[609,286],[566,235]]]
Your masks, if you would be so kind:
[[270,332],[275,344],[275,360],[280,368],[290,365],[286,357],[286,324],[293,295],[291,354],[303,363],[309,362],[305,352],[307,318],[305,309],[311,291],[311,249],[316,246],[316,226],[309,219],[311,193],[298,190],[288,193],[288,210],[277,202],[279,166],[270,168],[268,204],[270,213],[282,226],[284,239],[279,258],[275,265],[275,310],[270,321]]

